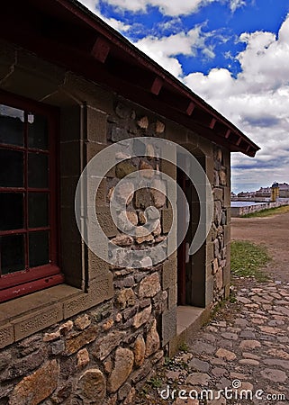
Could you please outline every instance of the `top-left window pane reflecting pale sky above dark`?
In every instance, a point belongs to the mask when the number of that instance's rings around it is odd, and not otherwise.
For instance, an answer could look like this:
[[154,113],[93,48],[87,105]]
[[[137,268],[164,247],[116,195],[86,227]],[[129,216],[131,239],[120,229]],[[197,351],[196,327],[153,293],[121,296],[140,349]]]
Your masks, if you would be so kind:
[[24,112],[0,104],[0,143],[23,146]]

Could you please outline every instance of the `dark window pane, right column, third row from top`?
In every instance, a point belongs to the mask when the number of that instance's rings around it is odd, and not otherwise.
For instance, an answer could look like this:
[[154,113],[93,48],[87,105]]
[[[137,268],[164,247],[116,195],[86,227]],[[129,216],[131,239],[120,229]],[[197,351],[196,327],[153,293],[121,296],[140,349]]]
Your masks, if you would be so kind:
[[48,225],[48,198],[47,193],[28,194],[29,228],[45,227]]

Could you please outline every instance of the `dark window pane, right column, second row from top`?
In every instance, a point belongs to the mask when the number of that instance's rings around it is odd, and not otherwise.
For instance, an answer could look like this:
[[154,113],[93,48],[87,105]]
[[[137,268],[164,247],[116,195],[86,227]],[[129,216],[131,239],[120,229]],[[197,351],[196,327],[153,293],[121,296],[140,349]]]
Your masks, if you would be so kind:
[[47,188],[48,184],[47,156],[41,153],[30,153],[28,156],[28,186]]

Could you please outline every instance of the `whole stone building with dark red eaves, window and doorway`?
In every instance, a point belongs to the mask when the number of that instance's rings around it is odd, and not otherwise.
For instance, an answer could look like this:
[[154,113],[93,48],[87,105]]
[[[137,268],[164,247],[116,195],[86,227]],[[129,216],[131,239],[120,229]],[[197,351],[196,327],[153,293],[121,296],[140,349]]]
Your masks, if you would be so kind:
[[[0,21],[0,403],[133,403],[152,368],[193,333],[195,314],[201,323],[228,297],[230,152],[253,157],[257,146],[75,0],[5,2]],[[182,157],[174,165],[152,146],[143,157],[129,150],[95,206],[107,238],[133,247],[141,266],[111,266],[77,229],[77,182],[96,154],[137,137],[172,140],[196,157],[212,189],[210,232],[188,256],[206,201],[177,169]],[[141,227],[151,205],[158,218],[149,236],[125,238],[110,198],[140,169],[155,170],[163,193],[132,189],[131,223]],[[174,208],[177,226],[185,216],[164,198],[162,174],[193,214],[187,240],[154,265],[143,250],[166,240]]]

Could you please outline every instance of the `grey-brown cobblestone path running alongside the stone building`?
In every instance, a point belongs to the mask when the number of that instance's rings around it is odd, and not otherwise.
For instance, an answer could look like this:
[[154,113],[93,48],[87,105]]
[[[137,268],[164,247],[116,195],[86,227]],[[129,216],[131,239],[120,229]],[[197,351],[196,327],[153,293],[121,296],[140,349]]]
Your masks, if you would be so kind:
[[289,404],[289,283],[235,283],[236,302],[151,377],[136,403]]

